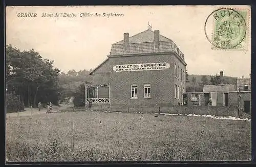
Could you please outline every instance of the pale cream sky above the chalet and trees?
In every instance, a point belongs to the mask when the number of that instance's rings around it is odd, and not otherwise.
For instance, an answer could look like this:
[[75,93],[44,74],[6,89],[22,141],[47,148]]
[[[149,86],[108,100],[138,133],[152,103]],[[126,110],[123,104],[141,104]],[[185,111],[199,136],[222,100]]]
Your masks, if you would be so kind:
[[[235,6],[246,8],[248,6]],[[246,50],[212,49],[204,24],[218,6],[58,6],[7,7],[6,44],[20,50],[34,49],[54,61],[54,67],[69,70],[94,69],[110,54],[111,45],[148,29],[172,39],[184,53],[189,74],[249,77],[251,73],[250,18]],[[37,17],[18,17],[36,13]],[[76,17],[42,17],[67,13]],[[80,14],[93,14],[80,17]],[[101,14],[100,17],[94,16]],[[103,13],[123,16],[103,17]]]

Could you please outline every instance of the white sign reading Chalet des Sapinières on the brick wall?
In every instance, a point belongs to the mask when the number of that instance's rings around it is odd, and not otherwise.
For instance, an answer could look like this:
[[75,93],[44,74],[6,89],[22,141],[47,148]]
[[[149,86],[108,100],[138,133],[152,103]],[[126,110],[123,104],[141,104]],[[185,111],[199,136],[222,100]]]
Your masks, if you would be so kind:
[[122,71],[149,71],[149,70],[166,70],[170,68],[168,63],[143,63],[143,64],[122,64],[113,67],[116,72]]

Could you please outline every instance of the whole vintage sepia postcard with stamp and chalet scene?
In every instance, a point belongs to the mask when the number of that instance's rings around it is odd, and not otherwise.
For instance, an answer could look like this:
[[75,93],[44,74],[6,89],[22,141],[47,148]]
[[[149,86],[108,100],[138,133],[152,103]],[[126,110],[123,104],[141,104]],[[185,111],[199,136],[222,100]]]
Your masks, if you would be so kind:
[[251,160],[250,15],[6,7],[6,162]]

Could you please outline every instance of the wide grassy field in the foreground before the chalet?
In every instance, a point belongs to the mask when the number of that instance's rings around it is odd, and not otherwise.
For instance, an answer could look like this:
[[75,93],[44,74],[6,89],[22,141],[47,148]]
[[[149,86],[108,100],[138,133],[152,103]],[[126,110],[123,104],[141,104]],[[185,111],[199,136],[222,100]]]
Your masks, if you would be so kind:
[[250,121],[67,112],[7,117],[9,161],[250,160]]

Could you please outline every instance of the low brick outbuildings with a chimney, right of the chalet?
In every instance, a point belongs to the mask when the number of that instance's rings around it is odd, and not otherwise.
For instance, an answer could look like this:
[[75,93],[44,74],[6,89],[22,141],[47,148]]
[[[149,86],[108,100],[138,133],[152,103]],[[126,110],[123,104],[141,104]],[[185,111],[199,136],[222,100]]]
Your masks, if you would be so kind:
[[245,112],[251,110],[251,78],[237,78],[236,84],[223,84],[223,72],[220,85],[204,85],[203,92],[184,93],[188,106],[239,106]]

